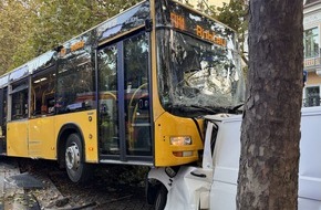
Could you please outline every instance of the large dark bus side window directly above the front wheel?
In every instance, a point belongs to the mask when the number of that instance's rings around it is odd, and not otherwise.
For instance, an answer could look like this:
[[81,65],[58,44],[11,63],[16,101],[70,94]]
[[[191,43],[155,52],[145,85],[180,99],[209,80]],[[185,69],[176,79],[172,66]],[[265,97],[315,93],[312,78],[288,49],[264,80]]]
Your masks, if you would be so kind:
[[63,60],[58,67],[56,113],[94,108],[94,66],[89,52],[82,50],[79,56]]

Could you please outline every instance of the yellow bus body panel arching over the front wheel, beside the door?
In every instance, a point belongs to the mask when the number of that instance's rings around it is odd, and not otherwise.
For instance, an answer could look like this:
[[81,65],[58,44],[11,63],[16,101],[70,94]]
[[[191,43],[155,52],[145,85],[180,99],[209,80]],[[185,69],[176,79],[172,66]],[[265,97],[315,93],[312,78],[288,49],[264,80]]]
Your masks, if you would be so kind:
[[[83,135],[86,162],[99,162],[96,111],[85,111],[55,116],[55,136],[64,125],[72,124],[80,128]],[[66,140],[66,139],[61,139]]]

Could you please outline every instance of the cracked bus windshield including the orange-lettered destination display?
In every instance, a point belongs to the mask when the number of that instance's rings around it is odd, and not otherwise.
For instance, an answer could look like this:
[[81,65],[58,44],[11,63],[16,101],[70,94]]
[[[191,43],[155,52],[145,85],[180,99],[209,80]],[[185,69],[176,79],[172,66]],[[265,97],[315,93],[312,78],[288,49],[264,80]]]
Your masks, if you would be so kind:
[[189,116],[198,114],[195,111],[215,113],[241,104],[244,80],[234,31],[177,8],[173,12],[169,7],[169,18],[157,28],[163,107]]

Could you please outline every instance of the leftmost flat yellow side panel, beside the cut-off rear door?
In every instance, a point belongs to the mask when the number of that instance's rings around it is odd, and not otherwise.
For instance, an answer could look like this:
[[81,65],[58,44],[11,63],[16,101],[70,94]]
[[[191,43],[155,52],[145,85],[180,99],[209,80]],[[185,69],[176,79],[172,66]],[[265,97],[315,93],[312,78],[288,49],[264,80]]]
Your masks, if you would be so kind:
[[7,124],[8,156],[28,157],[28,120],[9,122]]

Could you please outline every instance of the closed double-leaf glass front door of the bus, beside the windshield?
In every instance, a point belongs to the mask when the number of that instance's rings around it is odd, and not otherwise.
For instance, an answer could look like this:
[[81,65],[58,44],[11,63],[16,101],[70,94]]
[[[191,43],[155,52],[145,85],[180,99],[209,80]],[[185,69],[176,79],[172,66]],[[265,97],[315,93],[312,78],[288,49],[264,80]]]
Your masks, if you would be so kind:
[[152,164],[148,51],[145,32],[97,51],[102,161]]

